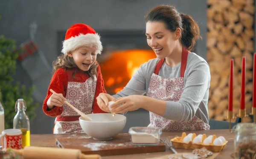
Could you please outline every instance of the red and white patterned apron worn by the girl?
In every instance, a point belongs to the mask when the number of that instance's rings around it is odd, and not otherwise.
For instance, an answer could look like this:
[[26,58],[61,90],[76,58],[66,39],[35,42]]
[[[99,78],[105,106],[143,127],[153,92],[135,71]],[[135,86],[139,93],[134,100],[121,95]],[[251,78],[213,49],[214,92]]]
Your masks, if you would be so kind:
[[[93,99],[96,90],[96,76],[94,81],[90,77],[85,82],[74,82],[72,70],[67,70],[66,100],[84,114],[92,114]],[[84,133],[79,124],[80,115],[64,103],[63,111],[55,119],[53,133]]]

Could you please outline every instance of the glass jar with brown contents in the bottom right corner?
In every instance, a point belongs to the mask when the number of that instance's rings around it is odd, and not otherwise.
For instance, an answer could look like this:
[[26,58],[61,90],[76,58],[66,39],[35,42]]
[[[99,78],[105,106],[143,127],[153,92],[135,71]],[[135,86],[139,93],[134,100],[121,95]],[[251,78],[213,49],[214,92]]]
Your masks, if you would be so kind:
[[239,123],[235,127],[234,139],[236,159],[255,159],[256,157],[256,124]]

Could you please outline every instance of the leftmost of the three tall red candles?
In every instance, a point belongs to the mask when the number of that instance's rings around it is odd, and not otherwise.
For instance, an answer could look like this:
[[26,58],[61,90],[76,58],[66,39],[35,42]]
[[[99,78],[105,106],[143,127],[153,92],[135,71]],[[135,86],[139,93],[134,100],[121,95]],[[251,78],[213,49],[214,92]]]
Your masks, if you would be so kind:
[[230,60],[230,79],[229,79],[229,94],[228,94],[228,111],[233,111],[233,59]]

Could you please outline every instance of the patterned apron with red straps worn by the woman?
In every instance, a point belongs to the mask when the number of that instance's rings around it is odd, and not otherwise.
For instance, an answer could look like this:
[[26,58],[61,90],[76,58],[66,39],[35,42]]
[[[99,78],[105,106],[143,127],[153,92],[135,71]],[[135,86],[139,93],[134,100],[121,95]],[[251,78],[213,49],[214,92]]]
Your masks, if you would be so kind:
[[[184,90],[184,72],[186,70],[188,51],[182,48],[181,65],[180,65],[180,78],[165,79],[158,76],[158,72],[164,62],[161,59],[151,76],[148,86],[147,96],[154,99],[174,101],[180,99]],[[203,120],[194,116],[189,122],[177,122],[163,118],[160,115],[149,112],[150,124],[149,127],[160,127],[163,131],[190,131],[190,130],[209,130],[210,126]]]

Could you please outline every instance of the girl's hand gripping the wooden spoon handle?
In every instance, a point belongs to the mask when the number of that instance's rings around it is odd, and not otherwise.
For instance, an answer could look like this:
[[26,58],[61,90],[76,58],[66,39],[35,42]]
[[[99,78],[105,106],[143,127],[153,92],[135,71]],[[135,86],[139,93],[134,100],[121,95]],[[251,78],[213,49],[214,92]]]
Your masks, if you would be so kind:
[[62,107],[65,100],[66,99],[63,97],[61,93],[60,94],[54,93],[47,100],[47,106],[49,109],[52,109],[53,106]]

